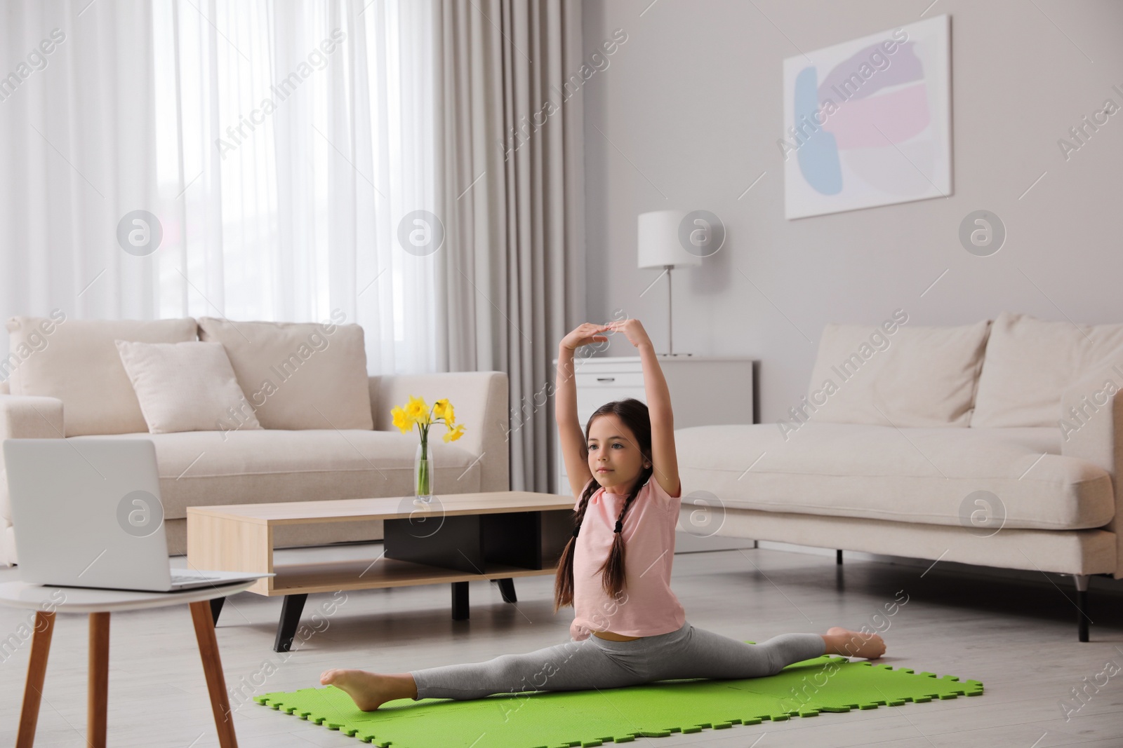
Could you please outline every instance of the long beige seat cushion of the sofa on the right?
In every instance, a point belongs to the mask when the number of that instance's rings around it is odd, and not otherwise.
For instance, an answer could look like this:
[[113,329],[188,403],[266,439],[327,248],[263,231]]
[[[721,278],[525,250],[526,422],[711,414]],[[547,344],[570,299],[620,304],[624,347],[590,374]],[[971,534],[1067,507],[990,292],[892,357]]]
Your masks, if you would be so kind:
[[970,525],[975,491],[1008,528],[1101,527],[1115,512],[1111,477],[1060,455],[1050,428],[894,428],[809,423],[787,441],[772,424],[675,431],[683,507],[705,490],[727,507]]

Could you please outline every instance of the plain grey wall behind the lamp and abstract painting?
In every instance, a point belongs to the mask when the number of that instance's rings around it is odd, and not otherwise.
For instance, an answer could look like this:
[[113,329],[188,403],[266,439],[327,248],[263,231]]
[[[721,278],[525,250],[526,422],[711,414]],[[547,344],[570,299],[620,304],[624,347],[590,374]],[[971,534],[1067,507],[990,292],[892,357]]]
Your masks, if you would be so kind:
[[[951,16],[951,196],[787,221],[782,61],[920,20],[929,0],[650,1],[584,4],[587,50],[628,34],[584,85],[590,321],[623,310],[665,347],[666,280],[640,296],[658,271],[636,267],[636,215],[678,207],[713,211],[728,239],[675,276],[675,349],[759,358],[766,423],[806,391],[827,322],[1123,322],[1123,112],[1067,161],[1057,145],[1105,99],[1123,107],[1123,2],[938,0],[924,18]],[[957,238],[983,209],[1007,230],[986,258]]]

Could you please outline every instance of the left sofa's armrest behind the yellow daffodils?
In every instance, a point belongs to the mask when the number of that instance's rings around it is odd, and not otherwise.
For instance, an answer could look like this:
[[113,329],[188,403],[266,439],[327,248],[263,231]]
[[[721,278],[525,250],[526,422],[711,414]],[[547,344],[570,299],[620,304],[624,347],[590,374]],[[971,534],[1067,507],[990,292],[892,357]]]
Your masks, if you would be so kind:
[[[509,384],[503,371],[451,371],[423,375],[371,377],[371,415],[375,431],[394,428],[390,409],[404,405],[410,395],[432,405],[447,397],[456,408],[456,423],[465,425],[457,446],[480,456],[481,491],[506,491],[511,487],[508,432]],[[439,438],[441,433],[433,432]],[[439,490],[439,487],[438,487]]]

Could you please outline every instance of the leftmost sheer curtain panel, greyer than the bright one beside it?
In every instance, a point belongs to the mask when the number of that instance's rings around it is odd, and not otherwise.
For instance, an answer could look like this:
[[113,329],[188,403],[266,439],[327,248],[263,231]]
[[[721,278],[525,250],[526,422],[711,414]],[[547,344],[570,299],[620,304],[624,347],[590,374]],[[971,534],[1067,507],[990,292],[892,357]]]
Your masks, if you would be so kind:
[[0,6],[4,318],[53,308],[69,317],[155,313],[152,260],[116,239],[127,212],[154,210],[150,9],[98,4]]

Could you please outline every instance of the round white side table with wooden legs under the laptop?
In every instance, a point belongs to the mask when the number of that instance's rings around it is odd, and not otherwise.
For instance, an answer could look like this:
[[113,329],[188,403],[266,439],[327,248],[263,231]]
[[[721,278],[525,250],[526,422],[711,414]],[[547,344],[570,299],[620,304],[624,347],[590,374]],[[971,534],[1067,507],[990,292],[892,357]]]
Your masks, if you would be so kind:
[[39,719],[39,701],[47,671],[47,655],[51,653],[51,636],[55,627],[55,613],[88,613],[90,616],[90,680],[88,693],[86,742],[93,748],[106,746],[106,708],[109,703],[109,616],[126,610],[166,608],[189,604],[195,627],[195,640],[207,677],[214,727],[221,748],[237,748],[234,735],[234,718],[226,694],[226,678],[218,656],[218,640],[214,638],[214,619],[210,600],[225,598],[254,584],[254,580],[207,587],[183,592],[129,592],[125,590],[93,590],[72,587],[42,587],[26,582],[0,584],[0,604],[11,608],[35,610],[35,632],[31,637],[31,655],[27,665],[27,683],[24,686],[24,708],[19,717],[19,733],[16,748],[31,748],[35,741],[35,726]]

